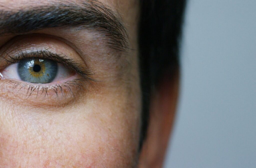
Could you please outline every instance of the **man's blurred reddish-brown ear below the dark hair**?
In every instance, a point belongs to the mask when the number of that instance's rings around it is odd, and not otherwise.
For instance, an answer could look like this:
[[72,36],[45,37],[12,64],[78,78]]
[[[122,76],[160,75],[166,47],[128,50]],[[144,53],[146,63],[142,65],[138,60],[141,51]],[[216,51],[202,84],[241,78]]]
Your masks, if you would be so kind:
[[179,75],[164,78],[151,98],[147,138],[139,159],[140,168],[162,167],[175,118]]

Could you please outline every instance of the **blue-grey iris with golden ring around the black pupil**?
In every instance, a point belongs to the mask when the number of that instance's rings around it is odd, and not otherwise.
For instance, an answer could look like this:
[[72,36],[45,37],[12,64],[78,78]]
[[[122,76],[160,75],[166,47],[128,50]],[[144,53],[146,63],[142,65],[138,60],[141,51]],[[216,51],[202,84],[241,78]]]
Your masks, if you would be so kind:
[[18,63],[20,79],[30,83],[50,83],[57,72],[57,62],[49,59],[25,59]]

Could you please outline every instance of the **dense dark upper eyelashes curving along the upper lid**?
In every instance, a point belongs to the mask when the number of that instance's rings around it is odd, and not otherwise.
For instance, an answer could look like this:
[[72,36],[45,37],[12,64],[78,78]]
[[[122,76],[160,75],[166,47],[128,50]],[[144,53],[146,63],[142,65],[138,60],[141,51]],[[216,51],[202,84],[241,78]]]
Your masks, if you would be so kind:
[[45,50],[38,50],[38,51],[30,51],[30,52],[22,52],[14,57],[8,55],[7,58],[4,58],[4,60],[7,62],[7,64],[4,67],[0,67],[0,69],[7,67],[10,64],[19,63],[23,59],[50,59],[53,61],[56,61],[58,63],[61,63],[64,67],[70,68],[71,70],[77,72],[77,74],[81,75],[82,78],[88,80],[88,81],[95,81],[93,78],[91,78],[94,73],[90,70],[85,70],[82,68],[81,64],[78,64],[76,61],[73,61],[72,59],[67,58],[65,55],[59,55],[56,53],[52,53],[51,51],[45,49]]

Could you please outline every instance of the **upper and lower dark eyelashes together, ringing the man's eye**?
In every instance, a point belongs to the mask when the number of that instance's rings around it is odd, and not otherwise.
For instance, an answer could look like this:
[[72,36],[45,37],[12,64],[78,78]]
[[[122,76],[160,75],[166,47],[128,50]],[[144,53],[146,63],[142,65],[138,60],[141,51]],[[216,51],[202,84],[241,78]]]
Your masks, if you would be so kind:
[[[48,91],[53,91],[56,93],[56,99],[59,99],[58,91],[61,93],[62,97],[66,97],[64,90],[67,89],[71,94],[72,97],[75,97],[72,88],[76,90],[81,90],[85,86],[85,82],[91,84],[92,81],[95,81],[91,78],[93,75],[92,71],[84,70],[81,64],[77,62],[67,59],[65,55],[58,55],[55,53],[50,52],[49,50],[40,50],[40,51],[31,51],[29,53],[19,53],[18,55],[11,57],[8,55],[7,58],[4,58],[6,61],[6,65],[0,67],[1,69],[6,68],[8,65],[19,63],[23,59],[50,59],[62,64],[64,67],[69,68],[79,74],[81,77],[77,79],[73,79],[71,81],[66,81],[64,83],[58,85],[49,85],[49,86],[41,86],[41,85],[33,85],[23,82],[18,82],[16,80],[7,80],[4,84],[13,85],[13,89],[19,88],[18,91],[24,88],[26,91],[26,98],[29,98],[34,92],[37,92],[36,98],[38,95],[44,95],[43,99],[48,97]],[[40,92],[39,92],[40,90]]]

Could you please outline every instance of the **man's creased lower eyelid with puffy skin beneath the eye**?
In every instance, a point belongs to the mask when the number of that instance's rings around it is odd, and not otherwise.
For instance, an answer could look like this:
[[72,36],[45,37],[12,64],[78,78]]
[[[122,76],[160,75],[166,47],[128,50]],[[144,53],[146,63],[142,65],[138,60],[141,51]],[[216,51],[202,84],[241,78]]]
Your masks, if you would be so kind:
[[23,106],[29,102],[30,106],[62,106],[79,99],[79,95],[86,92],[87,84],[82,78],[73,78],[60,84],[35,85],[19,80],[0,80],[0,97]]

